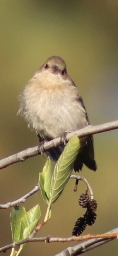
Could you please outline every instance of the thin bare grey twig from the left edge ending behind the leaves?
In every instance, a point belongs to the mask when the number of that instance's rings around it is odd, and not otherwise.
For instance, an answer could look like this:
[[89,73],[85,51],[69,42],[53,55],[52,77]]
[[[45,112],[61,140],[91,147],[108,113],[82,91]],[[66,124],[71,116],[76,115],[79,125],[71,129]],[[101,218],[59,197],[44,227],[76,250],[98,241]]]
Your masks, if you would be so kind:
[[34,189],[32,189],[29,193],[27,193],[26,195],[22,196],[21,198],[15,200],[13,202],[7,202],[7,204],[0,204],[0,209],[8,209],[8,208],[13,207],[13,206],[15,206],[17,204],[24,203],[28,197],[30,197],[34,193],[38,192],[39,190],[40,190],[39,185],[36,185],[34,187]]

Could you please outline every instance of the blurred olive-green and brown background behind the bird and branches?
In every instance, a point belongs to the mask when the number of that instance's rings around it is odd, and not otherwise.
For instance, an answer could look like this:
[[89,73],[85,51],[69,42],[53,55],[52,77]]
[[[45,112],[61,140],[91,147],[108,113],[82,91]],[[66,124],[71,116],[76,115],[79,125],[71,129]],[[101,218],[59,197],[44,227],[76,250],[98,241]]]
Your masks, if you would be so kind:
[[[0,0],[0,158],[38,145],[34,133],[17,117],[17,95],[36,69],[51,55],[67,63],[79,87],[91,124],[118,119],[118,1],[117,0]],[[83,168],[98,203],[97,220],[83,234],[99,234],[118,226],[118,131],[94,135],[96,173]],[[0,203],[18,199],[38,183],[46,156],[36,156],[0,170]],[[84,214],[70,180],[52,206],[51,220],[39,237],[70,237],[77,218]],[[40,204],[40,193],[24,206]],[[0,247],[12,242],[10,209],[0,210]],[[21,255],[54,255],[76,243],[29,243]],[[9,255],[7,251],[4,255]],[[86,255],[118,255],[114,240]]]

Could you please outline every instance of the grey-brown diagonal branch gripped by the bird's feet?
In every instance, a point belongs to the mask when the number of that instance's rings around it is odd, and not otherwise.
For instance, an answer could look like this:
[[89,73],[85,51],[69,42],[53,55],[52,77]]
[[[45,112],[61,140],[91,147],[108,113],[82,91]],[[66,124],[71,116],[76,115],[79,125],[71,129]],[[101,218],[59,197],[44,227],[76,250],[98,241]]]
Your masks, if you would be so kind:
[[[101,125],[95,125],[95,126],[87,126],[86,128],[67,133],[66,140],[68,141],[74,134],[77,134],[79,138],[86,137],[91,134],[97,134],[97,133],[102,133],[105,131],[111,131],[118,129],[118,120],[112,121],[109,123],[104,123]],[[46,152],[47,150],[59,146],[63,144],[62,138],[58,137],[54,140],[51,140],[49,142],[44,142],[43,144],[43,152]],[[17,154],[14,154],[12,156],[8,156],[2,160],[0,160],[0,169],[3,169],[11,164],[17,163],[17,162],[23,162],[29,157],[36,156],[38,154],[41,154],[40,147],[32,147],[26,150],[23,150]]]

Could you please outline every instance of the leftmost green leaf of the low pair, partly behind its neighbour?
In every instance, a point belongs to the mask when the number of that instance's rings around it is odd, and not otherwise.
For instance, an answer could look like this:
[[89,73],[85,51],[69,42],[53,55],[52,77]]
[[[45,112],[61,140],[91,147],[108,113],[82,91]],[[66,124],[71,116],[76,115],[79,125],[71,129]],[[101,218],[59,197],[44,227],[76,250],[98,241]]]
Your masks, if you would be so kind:
[[26,210],[22,205],[15,206],[10,212],[12,240],[18,242],[21,234],[21,218],[26,214]]

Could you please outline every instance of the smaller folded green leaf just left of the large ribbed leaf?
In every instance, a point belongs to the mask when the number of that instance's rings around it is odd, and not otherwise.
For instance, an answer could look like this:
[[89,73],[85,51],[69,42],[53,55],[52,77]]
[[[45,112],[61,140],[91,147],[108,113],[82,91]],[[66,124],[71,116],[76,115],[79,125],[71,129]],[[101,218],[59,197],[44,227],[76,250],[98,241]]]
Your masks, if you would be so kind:
[[46,164],[44,165],[43,171],[39,173],[39,186],[41,188],[41,194],[46,202],[48,204],[48,199],[50,195],[50,186],[51,186],[51,160],[48,157]]

